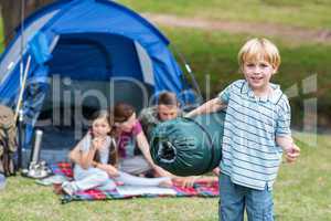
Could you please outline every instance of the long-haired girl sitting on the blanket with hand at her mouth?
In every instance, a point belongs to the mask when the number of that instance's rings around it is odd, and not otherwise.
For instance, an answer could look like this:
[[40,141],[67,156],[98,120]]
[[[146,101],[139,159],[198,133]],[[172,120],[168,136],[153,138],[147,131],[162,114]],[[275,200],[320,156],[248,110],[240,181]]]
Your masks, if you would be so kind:
[[113,190],[116,182],[131,186],[171,187],[171,179],[140,178],[117,169],[117,148],[110,136],[111,125],[106,112],[100,113],[92,124],[92,130],[78,143],[74,150],[81,151],[75,159],[74,181],[62,183],[67,194],[88,189]]

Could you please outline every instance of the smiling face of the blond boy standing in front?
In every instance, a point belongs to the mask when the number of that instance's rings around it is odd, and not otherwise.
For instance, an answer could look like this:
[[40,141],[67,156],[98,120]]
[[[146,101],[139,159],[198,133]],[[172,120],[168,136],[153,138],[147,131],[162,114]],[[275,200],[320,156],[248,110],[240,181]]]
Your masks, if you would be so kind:
[[265,60],[249,61],[243,64],[243,73],[253,91],[264,92],[273,74],[276,73],[271,64]]

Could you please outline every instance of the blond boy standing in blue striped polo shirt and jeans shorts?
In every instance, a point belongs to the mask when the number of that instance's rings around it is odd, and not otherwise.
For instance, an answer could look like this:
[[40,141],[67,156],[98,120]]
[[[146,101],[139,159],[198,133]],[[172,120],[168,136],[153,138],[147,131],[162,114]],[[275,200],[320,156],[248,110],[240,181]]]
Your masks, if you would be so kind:
[[280,56],[266,39],[252,39],[238,53],[245,80],[228,85],[188,114],[194,116],[226,107],[223,157],[220,164],[220,220],[273,221],[273,185],[281,154],[295,161],[300,149],[292,143],[287,96],[270,78]]

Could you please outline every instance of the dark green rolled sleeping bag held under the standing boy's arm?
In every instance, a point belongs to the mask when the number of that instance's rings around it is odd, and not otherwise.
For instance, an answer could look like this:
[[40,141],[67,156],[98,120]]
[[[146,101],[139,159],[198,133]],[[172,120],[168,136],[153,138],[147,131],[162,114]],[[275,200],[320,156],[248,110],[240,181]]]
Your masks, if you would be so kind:
[[225,112],[159,124],[150,140],[153,161],[177,176],[211,171],[222,158]]

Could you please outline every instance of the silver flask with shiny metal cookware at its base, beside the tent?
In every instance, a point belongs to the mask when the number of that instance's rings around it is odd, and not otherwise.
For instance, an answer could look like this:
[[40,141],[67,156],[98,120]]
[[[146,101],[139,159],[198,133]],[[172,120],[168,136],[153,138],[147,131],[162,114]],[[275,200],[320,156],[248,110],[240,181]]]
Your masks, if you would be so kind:
[[23,169],[22,175],[34,178],[34,179],[42,179],[52,173],[52,171],[47,168],[46,162],[44,160],[40,160],[40,150],[41,150],[41,143],[42,143],[42,130],[35,131],[35,140],[33,151],[31,152],[31,162],[29,165],[29,169]]

